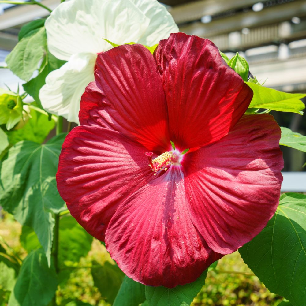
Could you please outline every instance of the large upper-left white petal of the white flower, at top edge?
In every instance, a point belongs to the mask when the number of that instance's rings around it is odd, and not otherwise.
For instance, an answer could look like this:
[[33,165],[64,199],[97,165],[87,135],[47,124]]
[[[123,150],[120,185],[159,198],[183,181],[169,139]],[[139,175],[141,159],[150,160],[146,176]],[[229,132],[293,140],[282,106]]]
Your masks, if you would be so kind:
[[118,44],[136,41],[149,23],[129,0],[71,0],[54,9],[45,27],[50,52],[68,60],[72,54],[110,49],[103,38]]

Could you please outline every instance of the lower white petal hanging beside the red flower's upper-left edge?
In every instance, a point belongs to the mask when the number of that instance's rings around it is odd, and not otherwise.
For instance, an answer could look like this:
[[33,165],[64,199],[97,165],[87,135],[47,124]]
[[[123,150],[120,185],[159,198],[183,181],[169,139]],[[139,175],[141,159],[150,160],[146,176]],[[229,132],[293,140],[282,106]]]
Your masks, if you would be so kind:
[[79,123],[80,99],[85,87],[94,80],[95,61],[96,55],[76,54],[60,69],[49,73],[39,91],[43,108]]

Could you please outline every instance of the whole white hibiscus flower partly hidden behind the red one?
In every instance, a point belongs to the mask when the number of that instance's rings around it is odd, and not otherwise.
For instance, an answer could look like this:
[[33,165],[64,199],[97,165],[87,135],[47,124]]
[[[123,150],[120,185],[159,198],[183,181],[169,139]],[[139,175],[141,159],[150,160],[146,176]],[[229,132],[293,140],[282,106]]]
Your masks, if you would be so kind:
[[45,110],[79,123],[80,98],[94,80],[97,53],[111,45],[103,38],[152,46],[177,25],[156,0],[71,0],[62,2],[45,23],[50,52],[68,61],[46,78],[39,91]]

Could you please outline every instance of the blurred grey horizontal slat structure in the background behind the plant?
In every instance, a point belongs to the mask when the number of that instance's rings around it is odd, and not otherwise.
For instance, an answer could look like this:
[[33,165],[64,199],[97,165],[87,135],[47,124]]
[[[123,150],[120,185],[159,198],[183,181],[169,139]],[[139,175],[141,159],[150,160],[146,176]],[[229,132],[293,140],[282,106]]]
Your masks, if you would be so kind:
[[[41,0],[41,2],[54,9],[60,0]],[[265,81],[266,86],[288,92],[306,91],[305,0],[261,2],[260,0],[160,0],[160,2],[167,5],[181,32],[209,38],[220,50],[230,56],[238,51],[248,60],[253,75],[260,81]],[[36,5],[13,6],[4,10],[0,15],[0,65],[5,65],[4,55],[17,43],[17,34],[21,26],[47,15],[47,10]],[[14,82],[16,86],[13,86]],[[21,80],[13,79],[12,73],[0,69],[0,87],[5,83],[17,88],[18,82],[21,85]],[[298,117],[292,118],[290,127],[295,127],[296,132],[305,134],[306,125],[303,128],[302,123],[294,121]],[[301,165],[306,161],[306,157],[304,153],[296,152],[299,154],[298,157],[296,153],[285,152],[285,164],[289,165],[286,171],[302,170]],[[285,179],[290,181],[292,177]],[[298,179],[306,181],[304,177]],[[297,191],[286,186],[284,191]],[[306,192],[306,187],[299,188],[299,191]]]

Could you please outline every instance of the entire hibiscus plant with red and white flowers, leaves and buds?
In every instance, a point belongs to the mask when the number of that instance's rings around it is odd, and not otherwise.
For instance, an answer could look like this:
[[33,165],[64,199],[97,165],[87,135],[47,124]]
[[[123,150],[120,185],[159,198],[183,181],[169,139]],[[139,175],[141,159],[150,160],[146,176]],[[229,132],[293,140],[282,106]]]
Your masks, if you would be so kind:
[[23,92],[0,90],[0,204],[28,255],[0,236],[9,306],[56,305],[92,237],[114,260],[91,270],[115,306],[189,305],[237,249],[282,303],[305,305],[306,196],[281,195],[279,145],[306,152],[306,137],[269,114],[302,115],[305,94],[262,86],[156,0],[62,1],[18,39],[6,63]]

